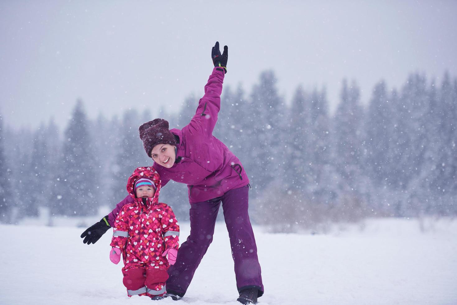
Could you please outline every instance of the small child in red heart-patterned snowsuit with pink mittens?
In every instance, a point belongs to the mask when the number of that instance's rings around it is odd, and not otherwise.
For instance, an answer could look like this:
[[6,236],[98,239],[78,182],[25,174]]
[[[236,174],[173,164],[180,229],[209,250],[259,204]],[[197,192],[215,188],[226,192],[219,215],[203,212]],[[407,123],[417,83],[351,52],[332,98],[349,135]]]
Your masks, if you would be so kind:
[[124,205],[114,222],[110,259],[117,264],[122,253],[129,297],[160,300],[167,269],[176,261],[179,225],[171,208],[159,203],[160,179],[153,167],[138,167],[128,178],[127,191],[134,202]]

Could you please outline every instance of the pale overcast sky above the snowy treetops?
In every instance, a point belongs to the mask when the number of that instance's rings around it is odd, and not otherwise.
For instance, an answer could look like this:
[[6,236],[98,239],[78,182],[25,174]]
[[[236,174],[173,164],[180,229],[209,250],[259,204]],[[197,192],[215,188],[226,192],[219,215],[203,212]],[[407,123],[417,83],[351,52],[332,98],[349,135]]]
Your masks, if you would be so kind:
[[[355,79],[457,74],[457,1],[6,1],[0,2],[0,113],[8,126],[60,127],[81,98],[90,118],[203,94],[211,47],[228,45],[224,85],[247,93],[276,72],[290,102],[298,85],[338,102]],[[223,111],[223,109],[222,109]],[[153,119],[153,118],[151,118]]]

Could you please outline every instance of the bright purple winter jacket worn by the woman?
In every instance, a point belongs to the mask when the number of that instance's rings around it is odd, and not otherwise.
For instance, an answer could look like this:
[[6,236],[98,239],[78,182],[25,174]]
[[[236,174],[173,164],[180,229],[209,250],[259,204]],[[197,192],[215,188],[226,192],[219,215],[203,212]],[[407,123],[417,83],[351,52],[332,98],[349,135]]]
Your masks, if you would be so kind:
[[[249,183],[239,159],[213,136],[221,107],[223,79],[223,69],[214,68],[191,122],[181,130],[170,129],[179,138],[175,164],[171,168],[153,164],[162,187],[170,180],[187,184],[191,204],[221,197],[227,191]],[[110,225],[122,206],[131,200],[132,197],[127,196],[108,214]]]

